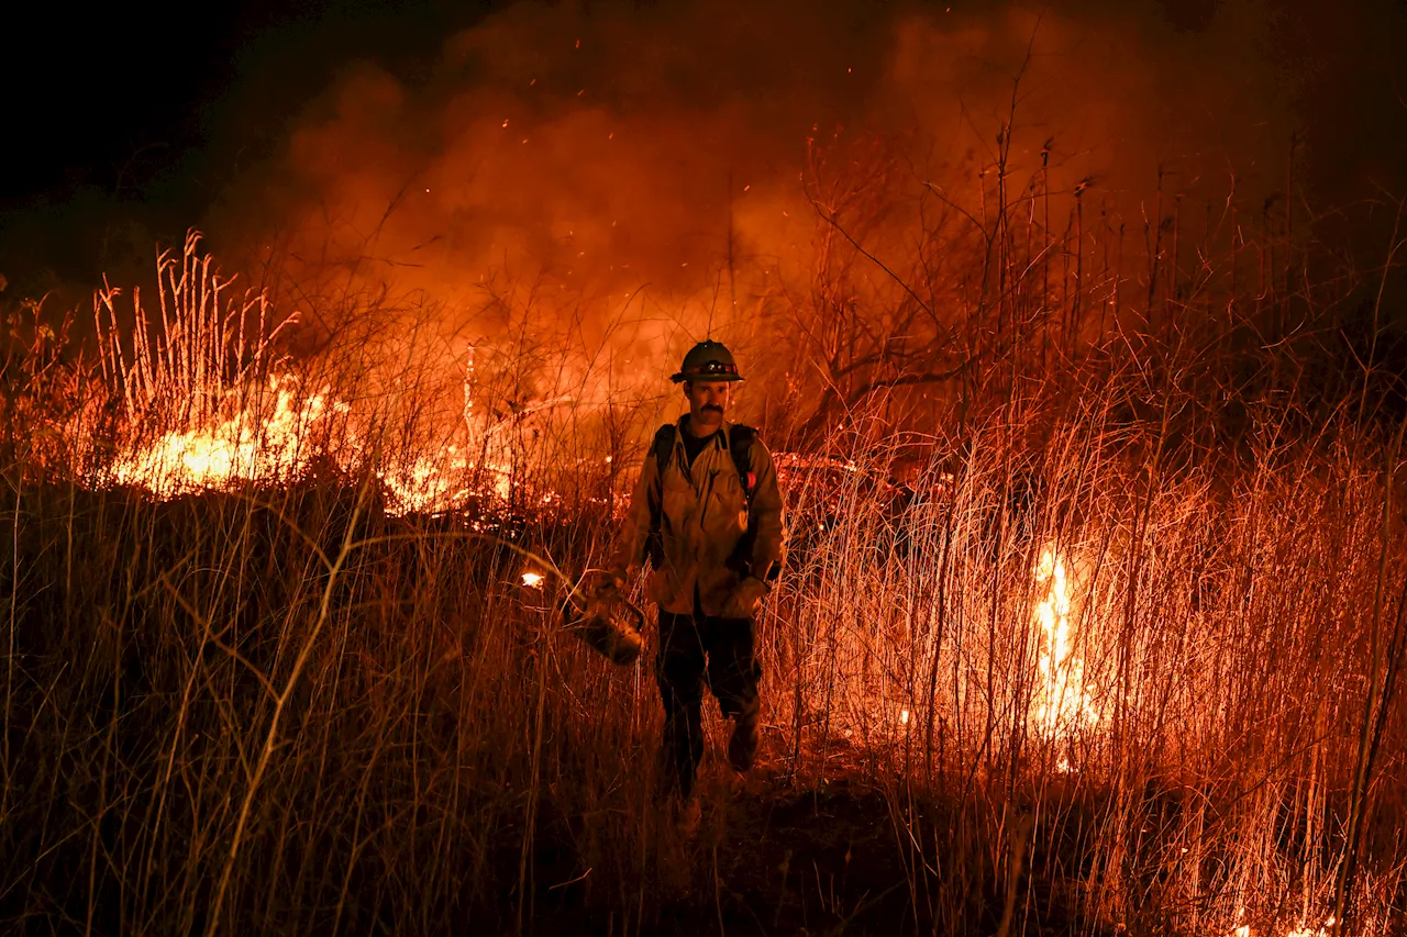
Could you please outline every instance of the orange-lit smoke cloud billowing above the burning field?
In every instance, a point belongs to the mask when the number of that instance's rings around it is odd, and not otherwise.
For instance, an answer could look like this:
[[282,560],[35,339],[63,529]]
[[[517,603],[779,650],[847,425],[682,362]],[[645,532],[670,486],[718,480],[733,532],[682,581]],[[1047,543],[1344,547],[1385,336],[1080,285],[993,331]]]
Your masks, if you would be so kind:
[[208,227],[288,295],[421,297],[470,340],[514,307],[556,310],[656,380],[705,333],[751,335],[750,297],[808,288],[812,170],[848,172],[865,141],[893,155],[899,207],[870,228],[884,249],[922,224],[905,193],[981,212],[999,138],[1012,186],[1045,159],[1057,200],[1079,183],[1140,224],[1159,189],[1209,211],[1233,179],[1248,204],[1283,189],[1293,86],[1263,10],[1185,20],[1150,3],[519,4],[447,37],[419,80],[349,65]]

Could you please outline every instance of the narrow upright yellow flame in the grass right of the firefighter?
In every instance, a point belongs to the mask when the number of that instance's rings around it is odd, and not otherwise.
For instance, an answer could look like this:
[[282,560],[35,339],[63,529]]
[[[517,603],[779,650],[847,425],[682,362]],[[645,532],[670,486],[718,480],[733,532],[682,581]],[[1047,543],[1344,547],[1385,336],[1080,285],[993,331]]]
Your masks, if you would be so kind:
[[[1085,678],[1085,661],[1071,640],[1071,581],[1065,560],[1043,550],[1036,567],[1036,623],[1040,627],[1031,726],[1050,741],[1062,741],[1099,725],[1099,688]],[[1075,765],[1061,757],[1058,770]]]

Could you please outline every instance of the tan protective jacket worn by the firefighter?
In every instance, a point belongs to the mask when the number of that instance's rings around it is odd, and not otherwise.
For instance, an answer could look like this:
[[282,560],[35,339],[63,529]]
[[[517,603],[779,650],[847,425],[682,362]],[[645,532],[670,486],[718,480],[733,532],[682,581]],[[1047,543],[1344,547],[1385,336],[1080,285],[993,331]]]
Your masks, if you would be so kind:
[[[667,612],[694,612],[694,591],[702,615],[743,616],[736,599],[743,573],[767,578],[779,570],[787,554],[782,492],[777,484],[777,466],[763,440],[753,439],[749,467],[756,477],[753,508],[729,452],[732,425],[723,422],[708,447],[689,466],[684,450],[688,415],[680,418],[674,433],[674,456],[660,476],[654,447],[644,459],[640,480],[630,495],[625,532],[616,550],[613,570],[625,578],[642,568],[650,539],[650,521],[658,512],[663,563],[650,575],[649,595]],[[756,532],[750,554],[736,557],[739,540],[749,525]],[[730,560],[733,560],[730,563]],[[775,566],[774,566],[775,564]]]

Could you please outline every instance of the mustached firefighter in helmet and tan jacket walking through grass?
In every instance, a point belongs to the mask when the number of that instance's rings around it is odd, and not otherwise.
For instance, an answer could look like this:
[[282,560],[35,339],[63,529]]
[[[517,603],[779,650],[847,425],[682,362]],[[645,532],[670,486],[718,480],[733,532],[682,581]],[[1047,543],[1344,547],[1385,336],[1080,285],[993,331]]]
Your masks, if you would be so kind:
[[726,418],[732,387],[743,380],[733,355],[701,342],[673,380],[689,411],[654,436],[602,591],[618,592],[651,561],[661,791],[688,802],[704,758],[705,685],[733,719],[729,763],[746,774],[757,756],[757,613],[781,571],[785,528],[771,453],[756,431]]

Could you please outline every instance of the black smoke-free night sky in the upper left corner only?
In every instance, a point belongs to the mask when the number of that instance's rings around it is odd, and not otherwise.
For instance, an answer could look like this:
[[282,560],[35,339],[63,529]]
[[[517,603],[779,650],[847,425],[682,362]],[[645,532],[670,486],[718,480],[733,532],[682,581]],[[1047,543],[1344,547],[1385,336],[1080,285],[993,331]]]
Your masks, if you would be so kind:
[[39,291],[149,263],[357,60],[414,76],[490,0],[25,3],[0,52],[0,274]]

